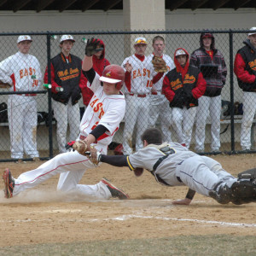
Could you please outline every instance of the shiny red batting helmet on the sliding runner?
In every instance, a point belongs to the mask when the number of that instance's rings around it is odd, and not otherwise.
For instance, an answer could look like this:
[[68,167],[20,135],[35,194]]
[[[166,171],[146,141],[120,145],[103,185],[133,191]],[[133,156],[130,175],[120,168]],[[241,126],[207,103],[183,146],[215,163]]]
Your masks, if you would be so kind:
[[109,65],[104,68],[100,78],[102,82],[115,84],[117,90],[121,90],[125,82],[125,71],[119,65]]

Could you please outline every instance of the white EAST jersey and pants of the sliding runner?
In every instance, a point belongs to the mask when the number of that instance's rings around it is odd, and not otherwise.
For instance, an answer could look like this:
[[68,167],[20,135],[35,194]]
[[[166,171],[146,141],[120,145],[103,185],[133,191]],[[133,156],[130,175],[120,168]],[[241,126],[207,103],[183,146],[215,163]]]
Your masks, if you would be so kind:
[[[99,78],[99,75],[96,73],[96,77],[90,86],[90,90],[94,91],[94,96],[90,100],[89,106],[86,108],[81,120],[80,137],[88,136],[96,125],[104,125],[108,128],[108,132],[98,138],[95,148],[106,154],[108,144],[111,143],[113,135],[119,129],[119,123],[125,115],[125,96],[122,94],[106,95],[103,92]],[[88,168],[94,167],[89,158],[79,154],[77,151],[58,154],[55,158],[45,162],[37,169],[24,172],[15,179],[13,195],[17,195],[25,189],[44,182],[49,177],[61,173],[57,189],[65,192],[76,192],[90,197],[93,196],[98,199],[108,199],[111,197],[110,191],[102,182],[95,185],[79,184],[84,172]]]

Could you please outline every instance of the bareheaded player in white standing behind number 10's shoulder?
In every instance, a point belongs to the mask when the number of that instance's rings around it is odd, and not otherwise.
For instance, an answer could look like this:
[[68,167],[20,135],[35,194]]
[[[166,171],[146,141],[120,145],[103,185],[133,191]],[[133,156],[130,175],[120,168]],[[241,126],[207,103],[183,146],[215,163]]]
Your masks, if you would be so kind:
[[[166,49],[165,39],[156,36],[152,40],[153,54],[148,56],[149,60],[152,60],[154,56],[161,57],[166,61],[166,67],[168,71],[174,68],[174,62],[169,55],[164,54]],[[154,127],[157,119],[160,119],[160,129],[164,136],[165,142],[172,142],[172,132],[170,130],[172,126],[172,109],[169,108],[169,102],[166,99],[166,96],[162,94],[163,80],[166,73],[160,73],[160,79],[158,76],[155,76],[154,79],[159,79],[157,82],[153,80],[153,86],[151,89],[152,95],[149,99],[149,109],[150,114],[148,116],[148,126]]]

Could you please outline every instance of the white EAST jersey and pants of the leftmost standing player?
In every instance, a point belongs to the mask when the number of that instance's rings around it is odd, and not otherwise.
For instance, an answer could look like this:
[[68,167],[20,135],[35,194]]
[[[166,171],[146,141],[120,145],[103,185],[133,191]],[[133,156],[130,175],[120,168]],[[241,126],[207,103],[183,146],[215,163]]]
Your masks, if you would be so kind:
[[9,91],[31,91],[30,94],[10,95],[8,99],[11,157],[22,159],[23,152],[32,158],[38,157],[35,91],[42,85],[38,59],[18,51],[0,62],[0,80],[12,85]]

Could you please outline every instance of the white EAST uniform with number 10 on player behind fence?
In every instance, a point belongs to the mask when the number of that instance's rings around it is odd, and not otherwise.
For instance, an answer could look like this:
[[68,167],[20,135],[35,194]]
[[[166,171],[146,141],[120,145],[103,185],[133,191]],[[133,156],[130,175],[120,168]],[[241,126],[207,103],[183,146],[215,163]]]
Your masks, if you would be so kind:
[[132,154],[131,141],[135,126],[136,150],[143,148],[141,135],[148,127],[149,94],[152,88],[153,66],[150,65],[148,57],[139,59],[136,55],[125,58],[122,63],[124,67],[127,61],[131,64],[131,73],[125,73],[124,93],[126,99],[125,128],[123,147],[124,154]]

